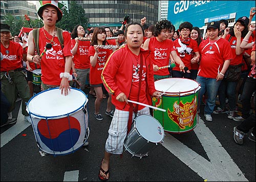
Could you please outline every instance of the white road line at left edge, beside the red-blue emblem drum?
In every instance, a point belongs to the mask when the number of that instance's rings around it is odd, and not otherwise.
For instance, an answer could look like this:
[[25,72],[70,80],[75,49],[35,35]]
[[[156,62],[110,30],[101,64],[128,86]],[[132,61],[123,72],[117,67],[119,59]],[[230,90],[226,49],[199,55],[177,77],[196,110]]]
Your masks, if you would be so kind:
[[5,132],[1,133],[1,148],[10,142],[14,137],[16,137],[19,133],[24,131],[27,127],[29,127],[31,124],[24,120],[24,115],[22,114],[22,102],[20,102],[19,111],[18,111],[18,117],[17,122],[15,125],[10,127]]

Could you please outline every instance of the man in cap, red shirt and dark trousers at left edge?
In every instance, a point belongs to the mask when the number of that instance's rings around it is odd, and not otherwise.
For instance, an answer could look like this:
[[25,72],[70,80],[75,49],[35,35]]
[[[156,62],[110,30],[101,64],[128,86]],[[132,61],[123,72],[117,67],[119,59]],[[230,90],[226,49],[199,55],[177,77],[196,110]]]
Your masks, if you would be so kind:
[[[24,55],[22,45],[10,41],[10,26],[7,24],[1,24],[1,54],[3,55],[3,59],[1,58],[1,89],[10,103],[8,112],[14,110],[18,92],[23,99],[22,114],[25,116],[25,121],[31,123],[25,104],[30,99],[29,86],[22,71],[22,59],[26,58],[26,53]],[[16,120],[16,118],[10,118],[5,124],[13,124]]]

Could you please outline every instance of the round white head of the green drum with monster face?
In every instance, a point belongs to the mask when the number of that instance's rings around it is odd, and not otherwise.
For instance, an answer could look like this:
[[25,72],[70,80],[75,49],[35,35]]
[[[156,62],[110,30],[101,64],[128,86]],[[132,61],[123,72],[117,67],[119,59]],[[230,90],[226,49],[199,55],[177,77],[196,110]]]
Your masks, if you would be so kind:
[[[170,87],[172,86],[172,87]],[[165,78],[155,81],[156,90],[165,92],[165,95],[186,95],[194,93],[194,89],[199,90],[201,87],[198,82],[186,78]]]

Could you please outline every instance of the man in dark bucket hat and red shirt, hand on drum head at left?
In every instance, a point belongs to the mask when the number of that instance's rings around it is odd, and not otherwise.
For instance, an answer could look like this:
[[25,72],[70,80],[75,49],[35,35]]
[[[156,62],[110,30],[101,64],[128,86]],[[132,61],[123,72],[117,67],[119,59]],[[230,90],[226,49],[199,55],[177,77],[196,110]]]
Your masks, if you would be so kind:
[[[57,37],[56,22],[62,18],[60,9],[52,4],[53,1],[40,1],[41,7],[37,14],[43,20],[44,27],[39,29],[39,52],[35,52],[32,31],[28,38],[28,55],[27,60],[41,65],[42,88],[48,89],[59,86],[61,94],[68,95],[70,90],[69,81],[73,80],[70,75],[72,65],[71,37],[69,32],[62,31],[63,44],[61,45]],[[51,44],[44,54],[46,44]],[[39,56],[40,55],[40,56]]]

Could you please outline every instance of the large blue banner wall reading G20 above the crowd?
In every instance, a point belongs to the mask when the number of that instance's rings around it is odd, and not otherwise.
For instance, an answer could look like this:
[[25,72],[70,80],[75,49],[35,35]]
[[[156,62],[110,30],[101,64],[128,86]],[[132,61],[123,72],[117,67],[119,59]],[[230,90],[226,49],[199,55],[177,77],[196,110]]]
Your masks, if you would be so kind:
[[[255,7],[255,1],[169,1],[167,19],[175,27],[189,21],[194,27],[202,28],[221,19],[233,26],[239,17],[249,17],[251,7]],[[255,16],[252,20],[255,21]]]

